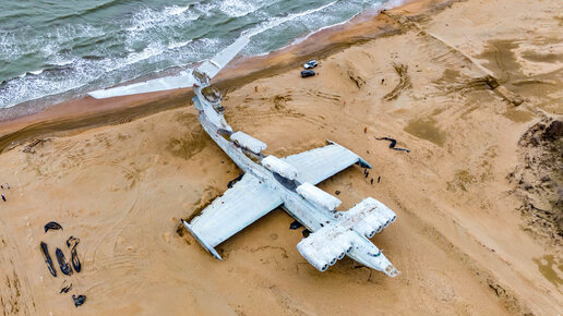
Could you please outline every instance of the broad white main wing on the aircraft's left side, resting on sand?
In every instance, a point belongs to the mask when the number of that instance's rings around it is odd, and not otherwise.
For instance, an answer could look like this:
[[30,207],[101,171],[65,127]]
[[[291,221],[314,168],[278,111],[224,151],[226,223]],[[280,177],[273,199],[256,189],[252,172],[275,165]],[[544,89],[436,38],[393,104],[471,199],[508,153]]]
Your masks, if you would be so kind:
[[266,184],[247,173],[216,198],[185,228],[217,259],[215,246],[282,205],[283,199]]

